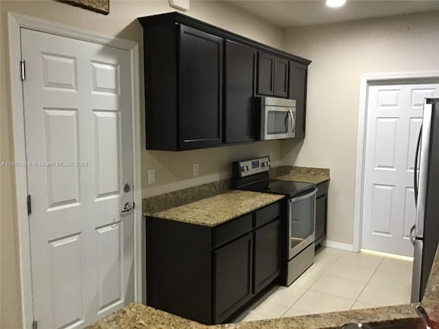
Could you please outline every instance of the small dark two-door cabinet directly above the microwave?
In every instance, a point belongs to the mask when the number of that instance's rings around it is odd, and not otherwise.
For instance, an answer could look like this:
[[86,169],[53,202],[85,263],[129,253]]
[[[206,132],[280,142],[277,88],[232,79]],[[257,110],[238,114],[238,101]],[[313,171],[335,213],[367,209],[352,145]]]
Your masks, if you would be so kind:
[[259,51],[258,94],[287,97],[288,60]]

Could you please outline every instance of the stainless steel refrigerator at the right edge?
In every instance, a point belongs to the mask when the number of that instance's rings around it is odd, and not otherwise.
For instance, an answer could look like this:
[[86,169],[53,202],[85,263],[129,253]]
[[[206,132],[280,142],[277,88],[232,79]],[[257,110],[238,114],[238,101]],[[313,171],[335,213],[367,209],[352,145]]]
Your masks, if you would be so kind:
[[424,101],[415,159],[416,221],[410,239],[414,244],[412,302],[419,302],[439,243],[439,98]]

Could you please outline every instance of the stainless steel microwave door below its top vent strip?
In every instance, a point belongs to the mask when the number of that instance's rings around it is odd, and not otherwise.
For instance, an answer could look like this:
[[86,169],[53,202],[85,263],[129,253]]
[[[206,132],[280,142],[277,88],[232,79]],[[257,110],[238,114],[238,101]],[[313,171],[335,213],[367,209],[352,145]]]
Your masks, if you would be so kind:
[[264,106],[261,117],[261,139],[281,139],[294,137],[296,108]]

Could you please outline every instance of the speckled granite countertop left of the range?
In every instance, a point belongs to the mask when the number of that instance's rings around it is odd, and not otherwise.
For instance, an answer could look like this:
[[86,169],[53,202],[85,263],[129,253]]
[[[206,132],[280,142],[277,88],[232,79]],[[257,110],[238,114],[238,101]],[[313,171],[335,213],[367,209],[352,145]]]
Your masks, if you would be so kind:
[[280,199],[283,199],[283,195],[230,191],[183,206],[155,212],[152,216],[202,226],[217,226]]

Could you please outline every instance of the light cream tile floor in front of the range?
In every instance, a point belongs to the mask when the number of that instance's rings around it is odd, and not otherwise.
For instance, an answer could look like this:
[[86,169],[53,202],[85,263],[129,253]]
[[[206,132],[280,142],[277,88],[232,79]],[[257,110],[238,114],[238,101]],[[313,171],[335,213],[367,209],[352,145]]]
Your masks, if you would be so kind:
[[323,248],[289,287],[274,287],[236,322],[410,303],[410,258]]

